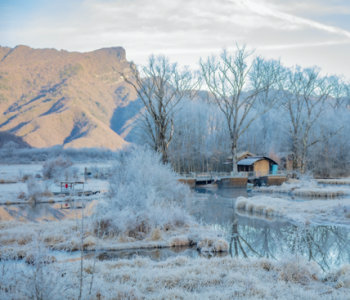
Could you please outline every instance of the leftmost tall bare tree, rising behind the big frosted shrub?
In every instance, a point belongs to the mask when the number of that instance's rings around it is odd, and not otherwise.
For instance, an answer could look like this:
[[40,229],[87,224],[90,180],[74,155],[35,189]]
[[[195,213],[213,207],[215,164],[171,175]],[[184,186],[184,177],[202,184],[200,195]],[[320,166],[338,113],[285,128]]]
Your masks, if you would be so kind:
[[164,55],[151,55],[148,64],[130,64],[131,77],[120,73],[132,85],[144,104],[141,110],[142,136],[168,162],[168,147],[174,133],[174,117],[184,99],[192,100],[200,80],[187,67],[180,69]]

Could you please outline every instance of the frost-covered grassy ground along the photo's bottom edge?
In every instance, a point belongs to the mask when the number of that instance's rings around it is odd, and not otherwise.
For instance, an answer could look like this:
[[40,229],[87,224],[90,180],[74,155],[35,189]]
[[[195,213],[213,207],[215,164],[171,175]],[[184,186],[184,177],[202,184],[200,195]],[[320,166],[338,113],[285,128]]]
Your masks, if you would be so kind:
[[154,262],[137,257],[95,264],[84,260],[82,268],[73,262],[17,269],[2,270],[2,299],[35,299],[38,293],[52,300],[77,299],[81,274],[82,299],[345,300],[350,293],[349,265],[322,274],[315,262],[296,256],[279,262],[183,256]]

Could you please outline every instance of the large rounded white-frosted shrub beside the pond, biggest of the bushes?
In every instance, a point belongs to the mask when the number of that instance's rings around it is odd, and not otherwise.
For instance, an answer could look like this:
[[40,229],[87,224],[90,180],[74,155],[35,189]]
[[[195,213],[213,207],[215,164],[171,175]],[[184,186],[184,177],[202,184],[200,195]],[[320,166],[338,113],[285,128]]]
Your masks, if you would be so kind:
[[109,234],[134,236],[158,226],[169,230],[194,222],[189,187],[179,183],[170,165],[162,164],[161,156],[150,149],[121,152],[109,184],[109,198],[96,212]]

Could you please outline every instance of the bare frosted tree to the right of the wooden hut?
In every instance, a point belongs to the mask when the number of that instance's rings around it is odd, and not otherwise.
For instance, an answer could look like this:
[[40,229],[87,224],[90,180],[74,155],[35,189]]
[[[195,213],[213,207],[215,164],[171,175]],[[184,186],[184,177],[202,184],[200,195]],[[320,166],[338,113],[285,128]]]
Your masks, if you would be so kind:
[[335,78],[321,76],[319,68],[299,66],[289,70],[284,84],[283,105],[289,119],[285,127],[292,144],[293,169],[303,174],[308,149],[340,130],[337,128],[326,136],[316,135],[313,130],[316,121],[330,108],[330,96],[332,93],[337,96],[339,86]]

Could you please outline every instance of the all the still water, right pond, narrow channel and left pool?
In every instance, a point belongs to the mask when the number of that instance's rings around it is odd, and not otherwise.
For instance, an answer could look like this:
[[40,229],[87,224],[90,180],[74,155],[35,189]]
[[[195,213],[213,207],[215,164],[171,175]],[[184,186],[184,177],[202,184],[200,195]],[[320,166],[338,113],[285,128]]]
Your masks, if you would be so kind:
[[[244,214],[236,211],[237,197],[253,196],[247,189],[197,189],[199,203],[195,217],[201,223],[224,230],[229,242],[229,252],[201,254],[193,247],[178,247],[152,250],[102,251],[97,254],[100,260],[132,258],[135,255],[152,260],[185,255],[191,258],[204,256],[232,256],[239,258],[266,257],[281,260],[284,257],[303,255],[317,262],[325,271],[350,263],[350,229],[342,226],[305,226],[292,224],[278,218]],[[291,200],[296,201],[296,200]],[[305,200],[304,201],[312,201]],[[329,200],[328,200],[329,201]],[[88,211],[93,211],[96,201],[86,203]],[[51,221],[75,217],[74,210],[64,209],[61,204],[13,205],[0,207],[0,219],[19,218],[27,221]],[[74,261],[80,253],[55,253],[58,260]],[[95,253],[85,253],[91,259]]]

